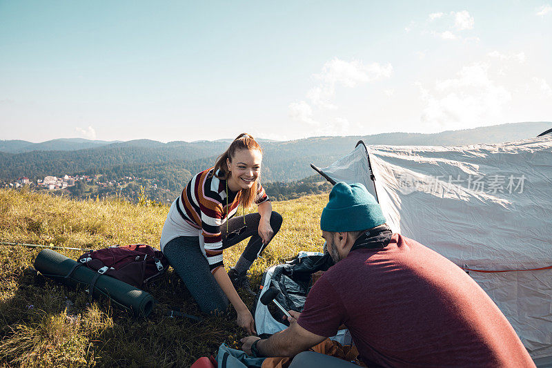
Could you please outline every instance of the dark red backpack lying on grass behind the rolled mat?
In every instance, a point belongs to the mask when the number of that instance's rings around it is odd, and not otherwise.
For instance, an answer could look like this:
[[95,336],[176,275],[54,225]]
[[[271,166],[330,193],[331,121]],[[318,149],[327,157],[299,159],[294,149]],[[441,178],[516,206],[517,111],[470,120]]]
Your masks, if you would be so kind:
[[86,264],[101,275],[109,275],[138,288],[157,280],[168,268],[165,255],[146,244],[88,251],[77,262]]

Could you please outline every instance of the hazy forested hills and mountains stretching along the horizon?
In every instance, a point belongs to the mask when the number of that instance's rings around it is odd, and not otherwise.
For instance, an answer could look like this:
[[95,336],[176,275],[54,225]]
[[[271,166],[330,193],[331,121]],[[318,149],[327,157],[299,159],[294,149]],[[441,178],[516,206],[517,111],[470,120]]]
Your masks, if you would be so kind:
[[[259,139],[264,149],[265,181],[299,180],[313,174],[309,164],[326,166],[350,152],[359,139],[367,145],[461,146],[491,144],[536,137],[552,122],[501,124],[442,133],[384,133],[367,136],[312,137],[288,142]],[[168,142],[138,139],[128,142],[54,139],[48,142],[0,141],[0,180],[27,176],[112,173],[112,175],[175,175],[185,177],[215,163],[232,139],[214,142]],[[185,180],[180,176],[178,180]]]

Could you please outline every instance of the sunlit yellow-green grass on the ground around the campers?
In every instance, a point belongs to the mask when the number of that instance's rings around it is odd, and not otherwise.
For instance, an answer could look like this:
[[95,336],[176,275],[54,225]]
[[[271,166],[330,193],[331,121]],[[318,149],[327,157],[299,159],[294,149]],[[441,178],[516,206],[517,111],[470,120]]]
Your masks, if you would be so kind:
[[[319,215],[327,195],[275,202],[284,224],[253,264],[258,286],[262,272],[300,250],[322,246]],[[0,190],[0,242],[53,244],[100,249],[144,242],[158,246],[168,207],[117,200],[72,201],[29,191]],[[224,252],[235,264],[245,243]],[[187,367],[215,354],[221,342],[237,347],[244,332],[233,309],[202,322],[168,318],[179,307],[200,316],[172,269],[146,289],[157,300],[148,319],[129,316],[108,300],[92,301],[82,290],[43,278],[32,269],[39,249],[0,245],[0,365],[7,367]],[[76,259],[81,251],[57,250]],[[248,307],[253,298],[240,293]]]

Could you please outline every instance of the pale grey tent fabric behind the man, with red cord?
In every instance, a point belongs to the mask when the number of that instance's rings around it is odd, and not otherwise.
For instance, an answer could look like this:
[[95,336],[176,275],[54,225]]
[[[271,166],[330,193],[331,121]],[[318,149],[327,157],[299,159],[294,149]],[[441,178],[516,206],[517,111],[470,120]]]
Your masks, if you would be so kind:
[[[387,224],[460,267],[552,266],[552,135],[472,146],[364,146],[322,168],[362,182]],[[374,195],[376,193],[373,193]],[[475,272],[533,358],[552,356],[552,270]]]

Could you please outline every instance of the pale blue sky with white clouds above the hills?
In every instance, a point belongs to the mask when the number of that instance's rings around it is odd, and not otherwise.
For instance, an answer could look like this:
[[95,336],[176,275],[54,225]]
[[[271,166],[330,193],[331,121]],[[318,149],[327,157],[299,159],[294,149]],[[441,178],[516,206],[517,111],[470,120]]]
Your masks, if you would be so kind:
[[551,66],[551,0],[0,0],[0,139],[552,121]]

